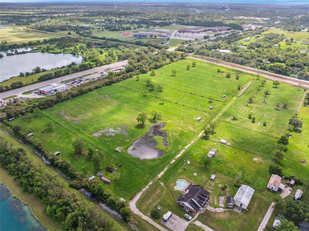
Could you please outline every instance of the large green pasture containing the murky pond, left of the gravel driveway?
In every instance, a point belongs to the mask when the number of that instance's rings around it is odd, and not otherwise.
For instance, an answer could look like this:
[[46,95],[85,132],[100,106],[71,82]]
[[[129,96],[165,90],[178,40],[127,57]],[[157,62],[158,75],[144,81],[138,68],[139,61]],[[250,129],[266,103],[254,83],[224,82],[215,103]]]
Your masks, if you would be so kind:
[[[71,143],[78,136],[87,141],[87,146],[98,149],[102,155],[102,166],[118,161],[125,163],[120,179],[112,181],[109,187],[117,194],[128,197],[148,183],[149,179],[165,167],[166,162],[193,139],[196,132],[201,131],[207,120],[224,104],[226,99],[221,97],[222,94],[232,97],[238,84],[243,85],[249,78],[248,74],[242,74],[239,80],[227,79],[224,74],[216,71],[214,65],[205,62],[197,62],[197,67],[187,71],[187,64],[191,65],[192,60],[178,61],[156,70],[156,75],[151,78],[156,84],[164,86],[163,92],[156,89],[149,91],[145,80],[150,78],[150,74],[142,74],[140,81],[131,78],[97,89],[43,110],[31,121],[19,118],[12,121],[12,124],[21,124],[25,132],[34,132],[34,138],[39,138],[46,149],[51,152],[59,150],[61,157],[74,164],[78,171],[85,166],[89,174],[95,173],[90,160],[85,156],[75,157],[72,154]],[[178,69],[178,73],[171,76],[171,69],[174,68]],[[235,75],[236,72],[231,73]],[[201,84],[203,88],[197,86]],[[217,91],[213,91],[215,86]],[[142,93],[144,90],[147,90],[146,97]],[[210,95],[214,97],[212,103],[209,103]],[[161,98],[165,99],[163,105],[160,104]],[[210,105],[214,109],[209,110]],[[167,124],[164,129],[169,136],[171,151],[156,161],[133,158],[126,153],[126,148],[145,134],[150,126],[147,122],[145,128],[136,127],[136,117],[142,111],[149,113],[151,110],[158,110],[163,115],[163,121]],[[197,121],[197,117],[202,117],[201,121]],[[53,121],[54,128],[44,132],[44,126],[48,121]],[[104,131],[110,128],[121,128],[124,132],[114,136],[104,134]],[[123,152],[115,151],[118,146],[123,147]]]

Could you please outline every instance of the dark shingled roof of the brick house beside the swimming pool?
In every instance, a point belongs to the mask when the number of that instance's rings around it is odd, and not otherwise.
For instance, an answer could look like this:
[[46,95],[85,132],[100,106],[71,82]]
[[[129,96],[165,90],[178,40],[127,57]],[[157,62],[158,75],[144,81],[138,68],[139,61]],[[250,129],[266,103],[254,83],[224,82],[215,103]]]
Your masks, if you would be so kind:
[[201,185],[190,184],[184,191],[188,191],[188,193],[180,194],[176,201],[187,202],[195,211],[197,211],[199,207],[204,208],[209,201],[209,192]]

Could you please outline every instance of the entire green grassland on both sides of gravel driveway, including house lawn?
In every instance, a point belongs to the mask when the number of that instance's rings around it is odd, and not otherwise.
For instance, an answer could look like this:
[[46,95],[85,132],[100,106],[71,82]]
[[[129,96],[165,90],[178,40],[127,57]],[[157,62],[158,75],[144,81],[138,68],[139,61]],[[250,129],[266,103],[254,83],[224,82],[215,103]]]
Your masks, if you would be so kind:
[[[196,67],[192,67],[193,61],[187,58],[165,65],[155,70],[155,76],[150,76],[150,72],[140,74],[139,81],[129,78],[43,110],[31,121],[19,117],[10,123],[21,125],[24,132],[33,132],[33,138],[39,139],[50,152],[60,151],[60,157],[72,163],[78,171],[86,167],[87,176],[90,176],[96,173],[92,161],[85,154],[75,156],[71,145],[75,138],[82,137],[87,147],[97,150],[101,156],[101,171],[112,181],[108,185],[102,184],[116,195],[129,199],[162,171],[209,120],[215,120],[218,126],[210,140],[197,139],[186,149],[162,178],[142,194],[138,208],[149,216],[151,208],[160,204],[163,212],[172,209],[183,216],[184,210],[175,204],[179,191],[175,191],[173,185],[177,179],[205,183],[205,189],[212,193],[211,205],[218,207],[218,184],[229,185],[231,194],[235,194],[234,179],[240,175],[241,183],[256,189],[249,210],[240,215],[233,211],[224,214],[205,211],[205,218],[199,216],[198,219],[214,230],[230,230],[231,227],[237,230],[243,224],[249,230],[256,230],[259,225],[256,221],[261,221],[272,197],[268,190],[263,191],[270,174],[269,165],[275,163],[272,151],[277,138],[286,133],[289,118],[297,111],[304,91],[283,83],[273,88],[270,80],[266,80],[264,87],[259,87],[264,80],[262,77],[257,79],[251,74],[203,61],[197,61]],[[186,70],[187,65],[190,70]],[[218,73],[218,68],[222,72]],[[172,69],[176,69],[176,76],[172,75]],[[231,78],[226,78],[226,73],[231,73]],[[239,80],[236,80],[236,74],[239,74]],[[154,90],[146,86],[148,78],[155,83]],[[237,97],[238,86],[249,82],[252,84]],[[164,87],[163,91],[158,90],[158,85]],[[270,95],[264,102],[265,89],[269,89]],[[225,98],[222,98],[223,94]],[[255,98],[253,103],[247,104],[251,94],[255,94]],[[277,103],[281,105],[278,109]],[[282,107],[283,104],[287,107]],[[210,106],[214,108],[210,110]],[[294,174],[300,178],[306,177],[309,171],[308,164],[299,163],[300,159],[309,158],[308,108],[300,108],[303,128],[300,133],[292,134],[284,159],[277,163],[284,174]],[[149,114],[152,110],[162,113],[162,121],[166,123],[163,129],[167,132],[168,151],[156,159],[134,158],[126,152],[127,148],[151,125],[147,121],[144,128],[137,127],[136,117],[141,112]],[[248,119],[249,113],[255,117],[255,123]],[[232,120],[233,116],[237,120]],[[202,119],[197,121],[197,117]],[[52,121],[54,128],[46,131],[45,124],[49,121]],[[263,126],[264,121],[266,126]],[[110,133],[113,130],[117,132]],[[227,140],[230,145],[221,144],[220,139]],[[116,147],[122,147],[122,151],[116,152]],[[213,165],[205,168],[197,162],[211,148],[217,149],[217,153],[213,157]],[[193,164],[184,170],[182,163],[186,157],[190,157]],[[104,170],[105,166],[115,165],[116,162],[123,165],[119,168],[121,175],[118,180]],[[210,181],[213,170],[217,171],[218,178]],[[170,179],[174,172],[177,173]],[[194,172],[198,173],[195,178]],[[162,181],[167,183],[161,184]],[[159,220],[156,222],[159,223]]]

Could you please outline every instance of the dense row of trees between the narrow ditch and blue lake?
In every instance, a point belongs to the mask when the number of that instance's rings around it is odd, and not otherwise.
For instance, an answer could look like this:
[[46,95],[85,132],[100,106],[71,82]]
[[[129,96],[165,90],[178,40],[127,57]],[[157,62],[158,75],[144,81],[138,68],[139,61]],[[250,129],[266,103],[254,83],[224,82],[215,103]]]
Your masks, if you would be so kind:
[[113,221],[106,219],[97,207],[85,203],[67,191],[51,174],[40,170],[28,159],[26,150],[0,140],[0,161],[25,191],[31,192],[44,205],[46,212],[61,222],[66,230],[112,230]]

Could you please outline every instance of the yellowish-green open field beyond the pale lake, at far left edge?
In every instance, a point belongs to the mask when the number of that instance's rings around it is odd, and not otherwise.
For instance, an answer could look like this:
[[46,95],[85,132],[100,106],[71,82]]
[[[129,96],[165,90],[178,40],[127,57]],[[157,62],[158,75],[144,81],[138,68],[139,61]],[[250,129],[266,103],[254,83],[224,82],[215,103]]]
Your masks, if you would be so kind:
[[60,38],[55,35],[36,33],[32,31],[22,31],[20,28],[4,28],[0,29],[0,39],[8,43],[27,43],[29,41],[37,41],[51,38]]

